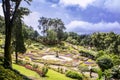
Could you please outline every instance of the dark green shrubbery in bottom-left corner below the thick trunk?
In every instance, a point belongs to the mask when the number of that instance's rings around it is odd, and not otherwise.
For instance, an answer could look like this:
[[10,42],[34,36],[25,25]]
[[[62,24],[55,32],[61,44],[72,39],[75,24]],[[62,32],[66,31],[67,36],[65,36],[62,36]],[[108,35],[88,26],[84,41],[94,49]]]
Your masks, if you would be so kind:
[[0,80],[23,80],[23,78],[14,71],[0,66]]

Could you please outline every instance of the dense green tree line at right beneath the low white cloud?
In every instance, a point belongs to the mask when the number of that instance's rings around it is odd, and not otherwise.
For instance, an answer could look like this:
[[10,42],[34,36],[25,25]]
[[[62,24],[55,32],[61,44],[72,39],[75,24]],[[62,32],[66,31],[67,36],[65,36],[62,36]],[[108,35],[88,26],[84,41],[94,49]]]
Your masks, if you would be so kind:
[[66,41],[85,47],[94,48],[97,51],[103,50],[108,53],[120,54],[120,35],[114,32],[96,32],[89,35],[79,35],[74,32],[67,33]]

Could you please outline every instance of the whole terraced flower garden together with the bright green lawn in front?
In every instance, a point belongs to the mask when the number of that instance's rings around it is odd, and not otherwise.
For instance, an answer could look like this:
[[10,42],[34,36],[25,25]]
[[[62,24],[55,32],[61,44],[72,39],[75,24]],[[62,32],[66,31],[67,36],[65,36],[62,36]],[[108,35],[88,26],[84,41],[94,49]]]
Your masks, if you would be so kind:
[[[3,37],[1,37],[1,45],[3,45]],[[2,47],[2,46],[1,46]],[[90,78],[91,66],[93,69],[99,69],[96,62],[90,58],[81,56],[80,51],[91,52],[96,55],[97,53],[84,48],[82,46],[72,45],[67,42],[63,42],[62,45],[56,46],[46,46],[41,43],[32,43],[27,45],[27,52],[24,54],[19,54],[19,61],[23,64],[37,65],[42,68],[45,64],[48,65],[48,73],[46,77],[40,77],[35,71],[31,71],[24,66],[13,64],[13,68],[18,70],[21,74],[29,77],[33,80],[73,80],[72,78],[66,77],[67,71],[75,71],[84,76],[84,79],[96,80],[99,75],[97,72],[92,73],[92,78]],[[3,49],[1,48],[1,53]],[[15,55],[12,54],[13,63],[15,60]]]

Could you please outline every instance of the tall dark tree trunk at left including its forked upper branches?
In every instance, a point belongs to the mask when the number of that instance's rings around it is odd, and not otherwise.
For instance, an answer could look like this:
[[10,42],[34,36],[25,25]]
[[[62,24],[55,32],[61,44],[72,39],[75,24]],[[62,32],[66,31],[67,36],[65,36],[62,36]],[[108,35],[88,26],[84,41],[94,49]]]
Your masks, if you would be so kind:
[[4,67],[8,69],[12,69],[12,57],[11,57],[11,32],[14,24],[14,20],[16,18],[16,12],[22,0],[17,0],[15,2],[14,10],[11,15],[11,3],[13,0],[2,0],[2,7],[5,17],[5,47],[4,47]]

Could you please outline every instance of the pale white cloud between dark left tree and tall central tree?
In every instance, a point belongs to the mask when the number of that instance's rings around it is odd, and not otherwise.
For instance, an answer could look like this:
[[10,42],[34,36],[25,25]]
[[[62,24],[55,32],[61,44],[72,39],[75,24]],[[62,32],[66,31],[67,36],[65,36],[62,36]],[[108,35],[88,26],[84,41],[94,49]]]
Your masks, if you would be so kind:
[[38,30],[37,26],[38,26],[39,18],[40,18],[40,13],[32,12],[30,15],[24,16],[23,21],[28,26],[32,26],[35,30]]

